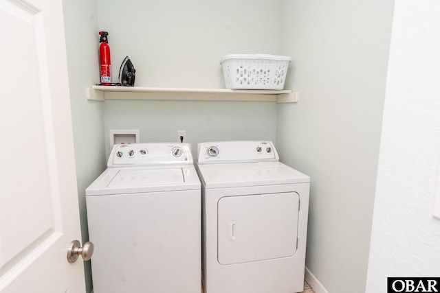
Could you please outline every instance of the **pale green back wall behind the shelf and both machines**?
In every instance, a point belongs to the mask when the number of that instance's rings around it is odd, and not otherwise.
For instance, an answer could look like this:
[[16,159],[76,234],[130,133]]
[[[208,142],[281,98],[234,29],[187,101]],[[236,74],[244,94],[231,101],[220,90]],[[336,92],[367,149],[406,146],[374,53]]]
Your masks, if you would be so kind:
[[[219,61],[226,54],[279,54],[281,0],[104,1],[99,30],[109,32],[112,78],[125,56],[136,86],[224,89]],[[228,139],[275,140],[270,102],[104,102],[104,133],[140,129],[140,141],[177,141],[186,130],[197,143]]]

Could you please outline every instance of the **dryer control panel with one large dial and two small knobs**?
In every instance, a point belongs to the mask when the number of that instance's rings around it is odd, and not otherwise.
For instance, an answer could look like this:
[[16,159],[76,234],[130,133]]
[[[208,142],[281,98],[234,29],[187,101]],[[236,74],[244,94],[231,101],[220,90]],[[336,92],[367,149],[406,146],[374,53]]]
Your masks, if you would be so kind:
[[214,141],[199,143],[198,163],[249,163],[279,161],[272,141]]

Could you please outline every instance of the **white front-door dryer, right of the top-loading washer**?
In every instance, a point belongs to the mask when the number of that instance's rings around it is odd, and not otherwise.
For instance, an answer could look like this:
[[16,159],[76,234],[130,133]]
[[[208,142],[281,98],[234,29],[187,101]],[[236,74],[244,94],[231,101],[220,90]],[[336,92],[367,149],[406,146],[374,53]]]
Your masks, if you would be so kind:
[[198,145],[205,293],[302,292],[309,176],[270,141]]

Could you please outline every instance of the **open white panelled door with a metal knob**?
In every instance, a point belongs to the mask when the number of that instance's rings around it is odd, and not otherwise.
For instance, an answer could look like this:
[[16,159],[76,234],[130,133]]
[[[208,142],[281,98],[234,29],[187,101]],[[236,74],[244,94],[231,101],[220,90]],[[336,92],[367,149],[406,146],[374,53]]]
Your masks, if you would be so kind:
[[0,292],[85,292],[61,0],[0,0]]

